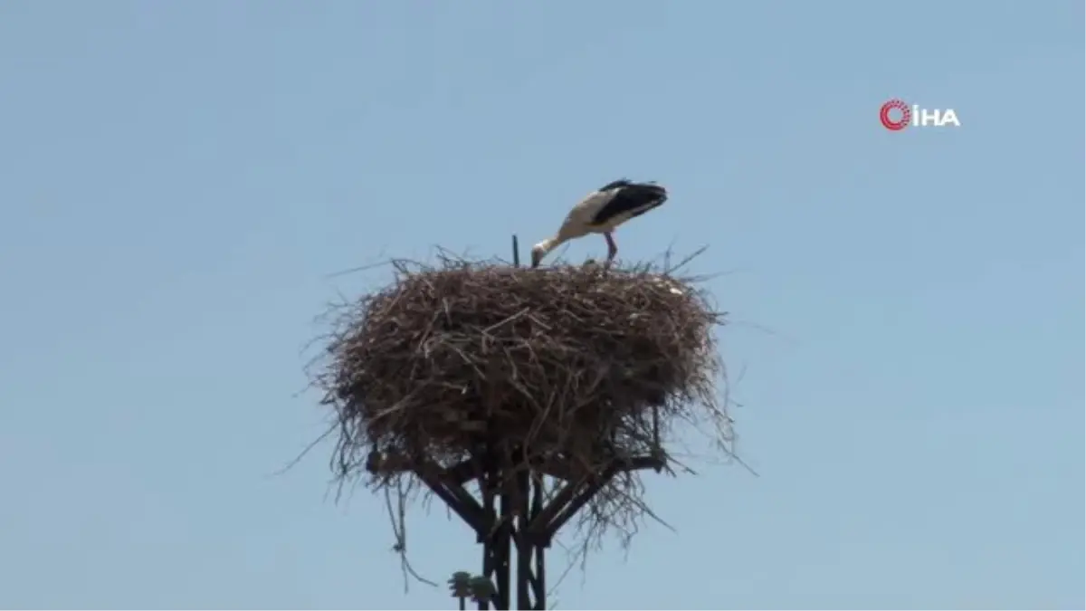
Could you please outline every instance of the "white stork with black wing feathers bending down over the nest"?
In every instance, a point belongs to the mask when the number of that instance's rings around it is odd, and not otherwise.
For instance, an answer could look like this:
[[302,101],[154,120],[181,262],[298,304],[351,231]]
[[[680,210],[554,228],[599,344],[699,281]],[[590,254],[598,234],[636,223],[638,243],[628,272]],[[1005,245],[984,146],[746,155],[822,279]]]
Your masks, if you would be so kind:
[[661,205],[668,190],[655,183],[632,183],[627,179],[608,183],[582,199],[566,216],[558,233],[532,248],[532,267],[538,267],[548,252],[571,239],[589,234],[603,234],[607,240],[607,262],[618,254],[611,233],[634,216]]

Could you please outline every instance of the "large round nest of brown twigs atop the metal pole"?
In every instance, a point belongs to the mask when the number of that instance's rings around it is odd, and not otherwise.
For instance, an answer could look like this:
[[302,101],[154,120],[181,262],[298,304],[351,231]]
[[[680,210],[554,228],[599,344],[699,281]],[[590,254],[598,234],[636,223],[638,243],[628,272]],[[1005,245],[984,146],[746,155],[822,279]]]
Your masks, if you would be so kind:
[[[402,485],[485,448],[506,470],[550,464],[566,478],[616,457],[667,464],[662,440],[680,421],[706,431],[708,420],[730,441],[714,334],[723,314],[673,270],[393,265],[390,285],[337,310],[316,376],[339,425],[338,475]],[[394,467],[375,469],[375,454]],[[635,474],[613,481],[589,525],[628,528],[640,489]]]

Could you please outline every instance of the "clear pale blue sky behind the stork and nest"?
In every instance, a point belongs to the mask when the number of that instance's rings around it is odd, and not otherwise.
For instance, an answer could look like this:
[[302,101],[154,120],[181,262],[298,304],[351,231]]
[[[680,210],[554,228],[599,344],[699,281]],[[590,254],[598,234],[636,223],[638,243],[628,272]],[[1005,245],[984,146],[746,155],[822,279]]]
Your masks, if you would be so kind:
[[274,475],[326,415],[313,317],[388,278],[327,276],[506,255],[629,176],[672,197],[621,255],[728,272],[760,477],[653,479],[678,532],[558,609],[1086,609],[1084,75],[1074,0],[8,0],[0,607],[452,609],[329,446]]

